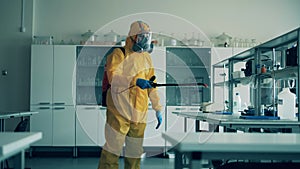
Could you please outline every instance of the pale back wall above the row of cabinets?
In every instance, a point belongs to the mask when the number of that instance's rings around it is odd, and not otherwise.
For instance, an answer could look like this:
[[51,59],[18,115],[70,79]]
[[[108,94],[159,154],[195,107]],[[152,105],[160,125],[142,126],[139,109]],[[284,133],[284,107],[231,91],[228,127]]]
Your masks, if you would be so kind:
[[[233,37],[264,42],[300,26],[299,6],[299,0],[36,0],[34,34],[53,35],[56,41],[69,40],[121,17],[127,20],[112,29],[127,34],[133,20],[128,15],[158,12],[190,22],[186,25],[176,23],[174,18],[155,17],[150,25],[158,32],[191,36],[189,27],[194,24],[208,36],[226,32]],[[150,18],[151,15],[141,16],[144,20]]]

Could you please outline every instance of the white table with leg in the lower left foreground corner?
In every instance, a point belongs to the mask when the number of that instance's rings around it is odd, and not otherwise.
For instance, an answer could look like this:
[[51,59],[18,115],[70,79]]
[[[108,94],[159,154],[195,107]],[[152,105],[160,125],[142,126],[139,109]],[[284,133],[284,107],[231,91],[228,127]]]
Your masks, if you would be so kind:
[[14,157],[14,168],[24,169],[25,149],[42,138],[41,132],[0,132],[0,162]]

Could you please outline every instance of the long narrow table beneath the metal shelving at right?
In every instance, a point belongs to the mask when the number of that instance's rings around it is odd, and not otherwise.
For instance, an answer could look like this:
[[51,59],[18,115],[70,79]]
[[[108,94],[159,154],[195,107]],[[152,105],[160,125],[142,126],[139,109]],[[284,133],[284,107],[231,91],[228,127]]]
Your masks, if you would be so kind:
[[195,120],[207,121],[210,124],[223,126],[226,131],[227,128],[231,129],[244,129],[248,131],[250,128],[288,128],[292,133],[300,133],[300,122],[295,120],[281,119],[281,120],[251,120],[240,119],[233,115],[220,115],[214,113],[202,112],[172,112],[178,116],[192,118]]

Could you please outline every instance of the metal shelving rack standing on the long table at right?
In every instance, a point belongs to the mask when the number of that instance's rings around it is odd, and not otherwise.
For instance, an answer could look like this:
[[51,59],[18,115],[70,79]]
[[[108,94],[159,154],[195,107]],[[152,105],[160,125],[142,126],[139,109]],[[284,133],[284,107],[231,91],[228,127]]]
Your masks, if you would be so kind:
[[[284,81],[279,82],[279,80],[290,80],[290,79],[298,79],[296,84],[296,92],[298,103],[300,102],[300,66],[293,67],[284,67],[285,66],[285,57],[287,49],[292,46],[297,46],[298,58],[300,54],[300,27],[289,31],[281,36],[273,38],[265,43],[262,43],[258,46],[255,46],[251,49],[240,52],[236,55],[233,55],[230,58],[222,60],[213,65],[214,72],[217,72],[218,68],[226,68],[227,74],[229,75],[228,80],[224,82],[214,83],[215,87],[228,87],[228,99],[230,101],[229,106],[233,107],[233,92],[237,84],[242,85],[251,85],[249,86],[249,96],[251,104],[255,106],[255,111],[257,115],[259,115],[261,105],[271,105],[276,110],[276,96],[280,89],[284,86]],[[284,68],[278,70],[271,70],[265,73],[261,72],[261,65],[265,64],[263,61],[264,56],[268,56],[268,59],[271,60],[271,63],[268,64],[271,69],[276,64],[280,64]],[[242,77],[242,78],[233,78],[232,72],[235,71],[235,66],[239,64],[243,64],[242,62],[247,62],[249,60],[253,60],[251,63],[252,74],[251,76]],[[297,65],[300,65],[300,61],[298,59]],[[245,65],[246,66],[246,65]],[[254,69],[254,70],[253,70]],[[250,69],[251,70],[251,69]],[[255,87],[253,87],[255,86]],[[265,88],[271,88],[270,91],[264,90]],[[272,102],[266,103],[265,100],[262,100],[262,96],[269,95],[272,98]],[[232,111],[232,109],[231,109]],[[300,109],[298,109],[298,113]],[[300,121],[300,117],[298,118]]]

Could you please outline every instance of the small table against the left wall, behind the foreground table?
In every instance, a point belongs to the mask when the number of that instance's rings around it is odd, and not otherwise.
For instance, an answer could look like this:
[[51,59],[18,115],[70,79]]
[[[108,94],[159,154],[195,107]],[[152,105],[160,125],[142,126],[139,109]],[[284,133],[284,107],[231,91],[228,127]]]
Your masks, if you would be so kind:
[[24,111],[24,112],[0,112],[0,132],[5,131],[5,119],[25,117],[37,114],[38,112]]

